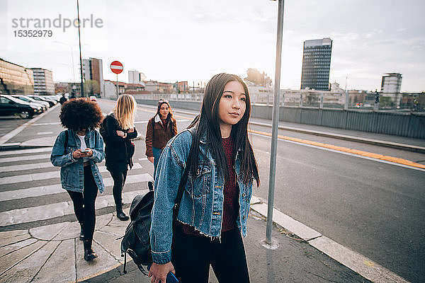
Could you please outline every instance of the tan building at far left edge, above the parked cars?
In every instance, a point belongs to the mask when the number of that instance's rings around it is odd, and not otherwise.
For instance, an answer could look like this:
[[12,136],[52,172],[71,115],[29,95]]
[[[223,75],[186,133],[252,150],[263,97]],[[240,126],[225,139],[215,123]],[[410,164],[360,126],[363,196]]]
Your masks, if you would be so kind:
[[34,93],[33,70],[0,58],[0,93]]

